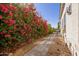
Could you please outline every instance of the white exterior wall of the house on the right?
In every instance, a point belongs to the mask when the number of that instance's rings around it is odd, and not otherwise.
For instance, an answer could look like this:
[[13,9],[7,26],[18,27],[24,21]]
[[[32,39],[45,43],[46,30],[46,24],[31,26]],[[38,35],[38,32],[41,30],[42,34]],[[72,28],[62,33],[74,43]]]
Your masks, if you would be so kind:
[[[71,14],[68,15],[67,8],[71,5]],[[72,55],[79,55],[79,4],[65,4],[63,15],[61,17],[61,33],[65,39]],[[65,21],[65,23],[64,23]],[[66,28],[63,28],[66,25]],[[63,27],[62,27],[63,26]]]

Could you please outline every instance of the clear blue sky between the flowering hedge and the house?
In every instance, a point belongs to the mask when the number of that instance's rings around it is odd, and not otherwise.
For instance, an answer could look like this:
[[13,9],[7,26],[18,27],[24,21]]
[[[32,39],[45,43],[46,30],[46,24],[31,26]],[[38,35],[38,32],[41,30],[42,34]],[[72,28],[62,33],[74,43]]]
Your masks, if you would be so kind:
[[59,21],[59,3],[36,3],[35,7],[38,13],[40,13],[52,27],[57,27]]

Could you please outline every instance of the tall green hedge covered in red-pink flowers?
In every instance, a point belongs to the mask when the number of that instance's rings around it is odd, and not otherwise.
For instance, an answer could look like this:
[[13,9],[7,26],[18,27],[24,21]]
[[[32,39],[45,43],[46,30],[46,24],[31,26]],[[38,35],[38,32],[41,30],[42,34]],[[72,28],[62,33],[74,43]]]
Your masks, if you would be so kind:
[[0,4],[0,46],[13,47],[17,43],[31,43],[48,34],[47,21],[39,17],[33,7],[19,4]]

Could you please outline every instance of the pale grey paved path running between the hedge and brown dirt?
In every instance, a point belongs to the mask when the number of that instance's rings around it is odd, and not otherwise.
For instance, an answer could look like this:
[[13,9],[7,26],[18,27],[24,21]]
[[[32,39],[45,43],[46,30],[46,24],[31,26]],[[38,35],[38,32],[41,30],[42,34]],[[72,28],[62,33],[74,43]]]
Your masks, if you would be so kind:
[[55,35],[51,34],[48,37],[45,37],[43,41],[36,42],[37,46],[32,48],[29,52],[27,52],[24,56],[46,56],[48,52],[49,45],[53,43],[53,38]]

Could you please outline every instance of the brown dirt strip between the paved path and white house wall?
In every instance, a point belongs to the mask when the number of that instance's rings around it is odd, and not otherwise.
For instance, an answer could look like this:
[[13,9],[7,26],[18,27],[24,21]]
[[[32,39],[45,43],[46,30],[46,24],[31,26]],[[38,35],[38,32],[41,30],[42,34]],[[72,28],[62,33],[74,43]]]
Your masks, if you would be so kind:
[[68,46],[61,37],[54,38],[54,43],[49,46],[48,56],[71,56]]

